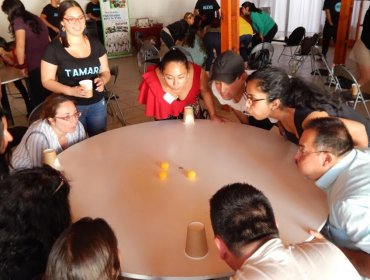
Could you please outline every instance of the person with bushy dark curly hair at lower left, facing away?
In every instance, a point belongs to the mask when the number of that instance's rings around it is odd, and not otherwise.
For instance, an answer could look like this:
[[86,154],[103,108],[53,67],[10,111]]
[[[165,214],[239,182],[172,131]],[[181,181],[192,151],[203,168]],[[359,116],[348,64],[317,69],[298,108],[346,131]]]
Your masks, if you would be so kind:
[[71,223],[69,191],[64,176],[46,165],[0,181],[0,279],[44,273],[54,241]]

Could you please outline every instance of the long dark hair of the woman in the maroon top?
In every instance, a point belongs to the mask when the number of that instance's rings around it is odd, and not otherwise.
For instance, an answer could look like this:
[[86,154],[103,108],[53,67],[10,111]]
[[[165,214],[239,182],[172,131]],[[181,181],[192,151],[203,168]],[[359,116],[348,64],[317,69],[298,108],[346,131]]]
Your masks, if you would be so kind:
[[39,17],[28,12],[20,0],[4,0],[1,5],[1,9],[5,14],[8,15],[9,21],[9,32],[14,36],[14,20],[17,17],[22,18],[25,24],[27,24],[33,33],[40,34],[42,25]]

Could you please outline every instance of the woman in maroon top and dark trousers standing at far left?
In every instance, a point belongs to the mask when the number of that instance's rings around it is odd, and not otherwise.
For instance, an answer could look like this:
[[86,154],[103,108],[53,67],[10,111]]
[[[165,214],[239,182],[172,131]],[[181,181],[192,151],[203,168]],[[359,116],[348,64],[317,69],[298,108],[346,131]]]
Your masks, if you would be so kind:
[[19,0],[4,0],[1,9],[8,16],[9,31],[15,37],[18,59],[15,67],[28,71],[29,95],[34,108],[49,95],[41,84],[40,74],[41,58],[49,44],[49,31],[41,19],[28,12]]

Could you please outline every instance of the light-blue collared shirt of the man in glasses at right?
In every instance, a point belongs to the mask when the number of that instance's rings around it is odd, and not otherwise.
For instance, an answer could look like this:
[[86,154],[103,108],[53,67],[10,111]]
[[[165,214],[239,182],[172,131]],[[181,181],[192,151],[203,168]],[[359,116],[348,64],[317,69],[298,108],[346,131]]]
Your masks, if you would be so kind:
[[369,254],[370,150],[352,150],[316,185],[327,193],[331,240]]

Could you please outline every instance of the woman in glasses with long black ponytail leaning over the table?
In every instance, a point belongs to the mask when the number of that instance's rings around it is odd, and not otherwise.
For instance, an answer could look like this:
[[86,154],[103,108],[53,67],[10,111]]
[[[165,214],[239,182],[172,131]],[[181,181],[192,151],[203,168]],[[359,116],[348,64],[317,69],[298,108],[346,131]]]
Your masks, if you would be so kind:
[[257,120],[279,121],[282,134],[298,144],[304,126],[314,118],[339,117],[358,147],[369,145],[370,121],[323,88],[269,67],[247,79],[246,111]]

